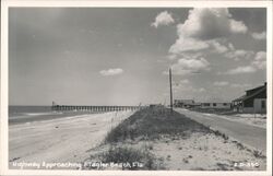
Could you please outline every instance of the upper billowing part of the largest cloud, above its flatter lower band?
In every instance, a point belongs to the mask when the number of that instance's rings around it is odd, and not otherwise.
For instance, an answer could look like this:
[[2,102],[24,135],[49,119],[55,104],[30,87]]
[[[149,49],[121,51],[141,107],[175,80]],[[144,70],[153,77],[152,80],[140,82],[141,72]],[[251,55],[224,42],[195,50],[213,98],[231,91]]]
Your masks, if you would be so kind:
[[215,39],[230,34],[246,33],[248,27],[232,19],[225,8],[192,9],[183,24],[177,26],[178,35],[199,39]]

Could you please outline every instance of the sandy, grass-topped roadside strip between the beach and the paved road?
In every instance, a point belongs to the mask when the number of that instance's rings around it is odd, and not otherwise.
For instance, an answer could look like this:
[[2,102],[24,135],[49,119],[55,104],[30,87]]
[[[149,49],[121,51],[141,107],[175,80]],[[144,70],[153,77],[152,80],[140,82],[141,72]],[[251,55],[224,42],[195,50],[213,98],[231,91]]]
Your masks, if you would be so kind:
[[84,169],[263,171],[260,152],[166,108],[136,112],[97,148]]

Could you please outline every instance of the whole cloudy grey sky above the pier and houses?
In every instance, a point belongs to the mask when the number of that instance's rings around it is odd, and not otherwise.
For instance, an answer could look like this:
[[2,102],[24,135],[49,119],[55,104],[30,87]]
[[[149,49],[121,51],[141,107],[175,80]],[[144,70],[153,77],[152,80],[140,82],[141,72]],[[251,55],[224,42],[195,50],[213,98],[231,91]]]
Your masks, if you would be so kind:
[[265,9],[12,8],[10,105],[230,102],[266,80]]

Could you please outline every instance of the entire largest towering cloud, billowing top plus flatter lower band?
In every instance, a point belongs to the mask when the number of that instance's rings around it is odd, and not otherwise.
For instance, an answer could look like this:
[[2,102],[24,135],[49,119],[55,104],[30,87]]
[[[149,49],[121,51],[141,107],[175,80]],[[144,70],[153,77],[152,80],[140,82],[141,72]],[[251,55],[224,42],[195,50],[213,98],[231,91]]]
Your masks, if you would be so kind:
[[[234,49],[232,44],[224,45],[226,37],[233,34],[245,34],[248,27],[232,17],[225,8],[204,8],[189,11],[185,23],[177,25],[175,44],[169,48],[170,54],[211,51],[217,54]],[[230,47],[229,47],[230,46]]]

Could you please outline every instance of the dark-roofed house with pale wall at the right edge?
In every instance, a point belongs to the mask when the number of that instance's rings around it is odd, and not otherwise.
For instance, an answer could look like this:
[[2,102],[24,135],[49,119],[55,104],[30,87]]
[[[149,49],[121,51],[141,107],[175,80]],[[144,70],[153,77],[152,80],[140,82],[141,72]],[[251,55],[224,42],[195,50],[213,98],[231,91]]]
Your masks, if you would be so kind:
[[246,94],[233,101],[234,112],[266,113],[266,82],[262,86],[247,90]]

